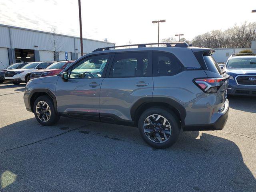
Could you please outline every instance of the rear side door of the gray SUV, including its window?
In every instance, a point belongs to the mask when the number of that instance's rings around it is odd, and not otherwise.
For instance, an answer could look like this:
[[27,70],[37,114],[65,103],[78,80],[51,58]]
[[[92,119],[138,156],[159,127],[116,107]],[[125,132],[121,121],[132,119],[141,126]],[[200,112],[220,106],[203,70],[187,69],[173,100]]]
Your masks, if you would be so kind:
[[153,93],[151,52],[119,52],[113,54],[109,76],[100,90],[100,120],[134,120],[132,108],[139,102],[151,102]]

